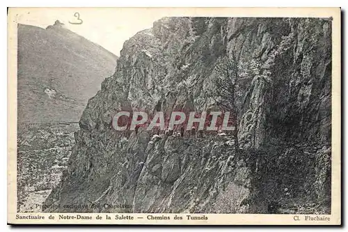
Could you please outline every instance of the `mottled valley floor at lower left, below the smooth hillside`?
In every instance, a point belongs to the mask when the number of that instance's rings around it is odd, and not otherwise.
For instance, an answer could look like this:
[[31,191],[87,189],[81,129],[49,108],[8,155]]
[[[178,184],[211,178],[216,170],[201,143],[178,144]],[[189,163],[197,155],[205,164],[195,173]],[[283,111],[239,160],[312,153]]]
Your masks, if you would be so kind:
[[17,138],[17,211],[41,212],[67,167],[79,125],[19,125]]

